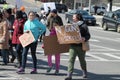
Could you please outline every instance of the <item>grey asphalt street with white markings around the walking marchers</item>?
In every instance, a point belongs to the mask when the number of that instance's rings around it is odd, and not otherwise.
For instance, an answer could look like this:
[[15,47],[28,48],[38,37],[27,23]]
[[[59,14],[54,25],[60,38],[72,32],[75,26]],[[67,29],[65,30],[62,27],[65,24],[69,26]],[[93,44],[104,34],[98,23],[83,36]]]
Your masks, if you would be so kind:
[[[6,1],[14,5],[14,0]],[[26,9],[39,10],[37,9],[38,5],[35,5],[34,2],[28,2],[28,0],[23,0],[23,2],[27,7]],[[64,24],[66,24],[65,15],[59,15],[62,17]],[[97,25],[88,26],[91,33],[90,51],[86,53],[88,80],[120,80],[120,33],[114,30],[104,31],[101,28],[102,17],[96,15],[95,17],[97,18]],[[42,42],[39,42],[37,47],[38,74],[30,74],[32,58],[29,54],[25,74],[17,74],[17,68],[14,67],[13,63],[9,63],[7,66],[0,65],[0,80],[64,80],[67,75],[69,53],[61,54],[60,72],[58,75],[54,75],[54,69],[47,74],[47,56],[44,56],[44,50],[41,45]],[[78,58],[76,58],[74,65],[73,80],[83,80]]]

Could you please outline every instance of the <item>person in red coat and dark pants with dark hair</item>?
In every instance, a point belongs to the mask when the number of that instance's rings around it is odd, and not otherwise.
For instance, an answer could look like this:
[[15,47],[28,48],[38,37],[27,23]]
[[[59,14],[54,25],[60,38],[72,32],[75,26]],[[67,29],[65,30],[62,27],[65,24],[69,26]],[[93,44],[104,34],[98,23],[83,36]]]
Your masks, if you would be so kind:
[[13,37],[12,37],[12,44],[15,45],[16,53],[17,53],[17,60],[18,64],[16,64],[16,67],[21,66],[21,61],[22,61],[22,45],[19,41],[19,37],[23,34],[23,26],[24,26],[25,20],[23,18],[22,11],[17,11],[16,12],[16,19],[13,24]]

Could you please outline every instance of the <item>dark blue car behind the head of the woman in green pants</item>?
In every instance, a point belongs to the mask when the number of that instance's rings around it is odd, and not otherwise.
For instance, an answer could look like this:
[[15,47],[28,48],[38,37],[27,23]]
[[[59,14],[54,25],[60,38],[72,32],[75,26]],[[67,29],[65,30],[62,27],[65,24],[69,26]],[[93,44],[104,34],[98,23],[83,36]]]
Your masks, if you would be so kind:
[[72,17],[74,14],[82,14],[84,21],[86,22],[87,25],[96,25],[96,19],[95,17],[89,15],[87,11],[84,10],[71,10],[69,12],[65,13],[65,18],[68,23],[72,23]]

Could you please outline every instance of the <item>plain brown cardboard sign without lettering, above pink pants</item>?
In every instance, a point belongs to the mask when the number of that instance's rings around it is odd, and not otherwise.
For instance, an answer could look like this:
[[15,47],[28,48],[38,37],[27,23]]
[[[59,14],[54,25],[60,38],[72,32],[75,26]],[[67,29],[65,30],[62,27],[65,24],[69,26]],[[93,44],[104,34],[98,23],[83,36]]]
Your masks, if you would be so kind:
[[57,36],[45,36],[43,38],[45,55],[55,55],[69,51],[69,45],[59,44]]

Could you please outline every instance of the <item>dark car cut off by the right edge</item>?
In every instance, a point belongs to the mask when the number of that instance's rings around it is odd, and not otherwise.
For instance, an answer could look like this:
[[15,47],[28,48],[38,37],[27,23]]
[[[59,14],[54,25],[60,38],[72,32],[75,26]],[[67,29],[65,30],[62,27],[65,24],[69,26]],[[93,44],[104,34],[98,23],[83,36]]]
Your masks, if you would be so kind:
[[102,28],[108,30],[110,28],[120,32],[120,11],[107,12],[103,16]]

